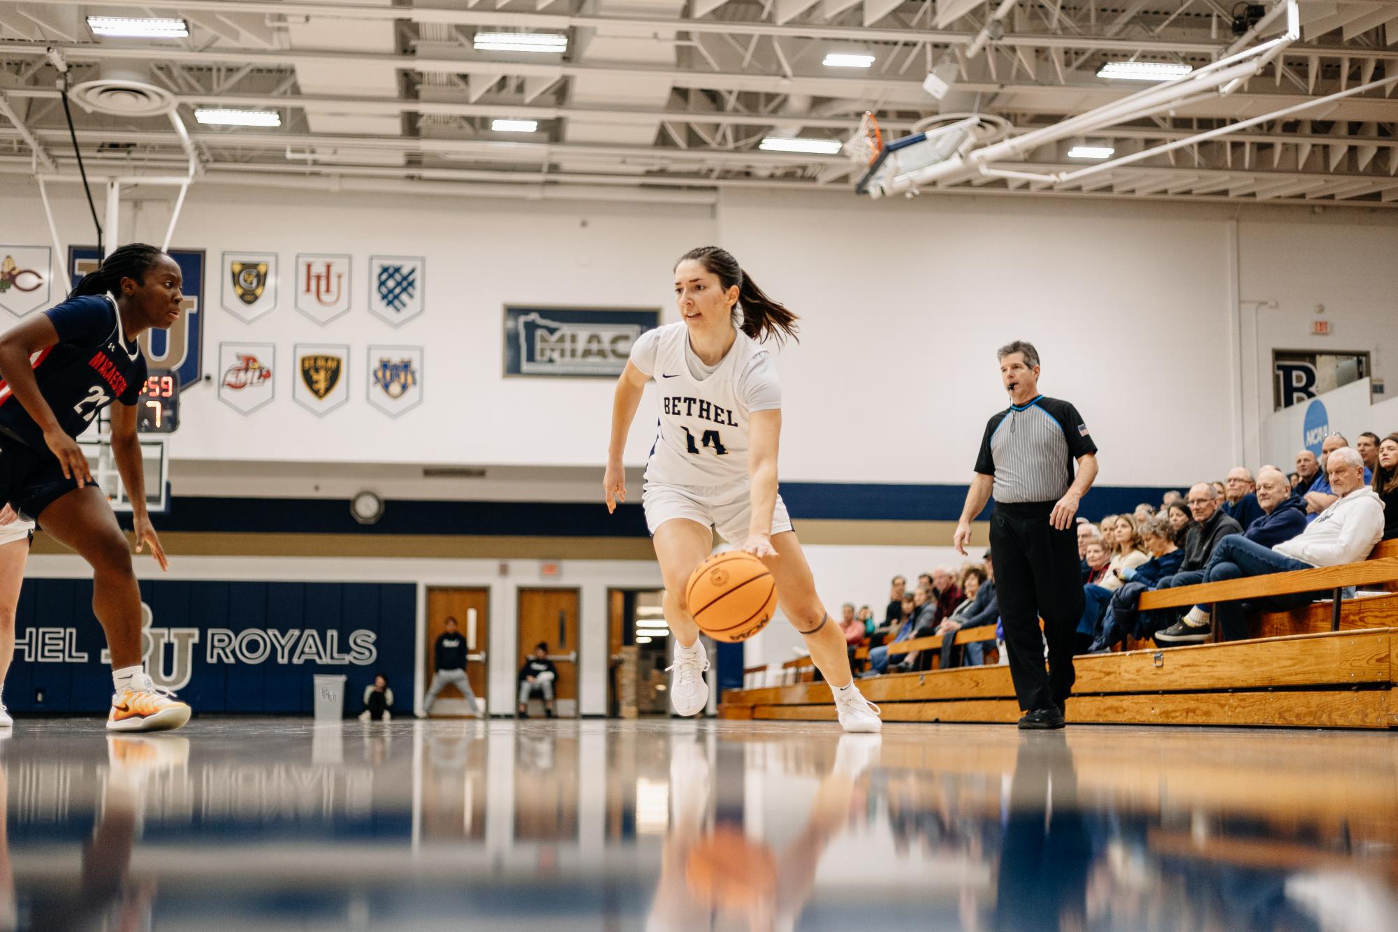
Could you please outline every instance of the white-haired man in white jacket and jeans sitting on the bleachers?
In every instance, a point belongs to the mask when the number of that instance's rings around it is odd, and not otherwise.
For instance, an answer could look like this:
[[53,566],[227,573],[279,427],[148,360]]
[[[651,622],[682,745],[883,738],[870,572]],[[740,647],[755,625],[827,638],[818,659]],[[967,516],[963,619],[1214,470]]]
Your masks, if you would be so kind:
[[[1325,458],[1325,472],[1331,489],[1339,497],[1316,516],[1302,534],[1274,548],[1248,541],[1241,534],[1226,537],[1209,558],[1204,570],[1205,581],[1341,566],[1367,558],[1384,534],[1384,502],[1373,488],[1364,485],[1364,460],[1356,450],[1341,447]],[[1310,594],[1279,595],[1265,599],[1262,606],[1283,611],[1310,601]],[[1247,637],[1241,602],[1218,602],[1213,613],[1223,626],[1225,639]],[[1156,640],[1208,640],[1213,633],[1213,620],[1206,605],[1195,605],[1177,625],[1158,633]]]

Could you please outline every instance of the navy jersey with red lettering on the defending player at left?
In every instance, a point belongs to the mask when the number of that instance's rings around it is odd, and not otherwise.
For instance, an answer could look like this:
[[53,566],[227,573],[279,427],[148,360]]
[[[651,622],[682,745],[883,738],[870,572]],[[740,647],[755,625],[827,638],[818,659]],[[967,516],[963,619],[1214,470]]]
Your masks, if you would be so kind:
[[[43,400],[70,437],[87,430],[96,412],[113,401],[134,405],[145,387],[145,355],[122,333],[116,302],[106,295],[71,298],[52,310],[59,342],[29,358]],[[46,450],[43,432],[10,386],[0,381],[0,430],[35,450]]]

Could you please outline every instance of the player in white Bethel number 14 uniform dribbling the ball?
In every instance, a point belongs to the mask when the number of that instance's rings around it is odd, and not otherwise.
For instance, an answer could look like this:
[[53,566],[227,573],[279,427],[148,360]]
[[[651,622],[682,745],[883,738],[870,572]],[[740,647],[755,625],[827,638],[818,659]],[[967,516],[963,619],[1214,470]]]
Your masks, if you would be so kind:
[[[642,391],[660,390],[660,429],[646,464],[642,504],[665,580],[664,611],[675,636],[670,700],[681,715],[709,701],[709,658],[685,605],[691,573],[713,549],[713,528],[772,571],[777,604],[805,637],[825,675],[844,731],[875,732],[878,707],[860,694],[844,637],[815,592],[811,567],[777,495],[781,386],[762,348],[795,335],[795,314],[756,286],[726,250],[705,246],[679,257],[675,303],[681,323],[643,334],[617,383],[603,486],[607,509],[626,500],[622,450]],[[738,319],[738,309],[742,316]]]

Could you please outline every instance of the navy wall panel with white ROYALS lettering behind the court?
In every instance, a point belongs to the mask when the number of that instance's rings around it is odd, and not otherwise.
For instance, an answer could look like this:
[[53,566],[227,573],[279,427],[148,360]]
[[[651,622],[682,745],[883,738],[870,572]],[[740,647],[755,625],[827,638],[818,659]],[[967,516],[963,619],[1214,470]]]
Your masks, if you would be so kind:
[[[91,580],[24,581],[10,708],[106,711],[110,657],[91,601]],[[361,711],[375,673],[411,708],[412,584],[144,580],[141,602],[145,668],[196,714],[310,714],[313,673],[348,678],[347,713]]]

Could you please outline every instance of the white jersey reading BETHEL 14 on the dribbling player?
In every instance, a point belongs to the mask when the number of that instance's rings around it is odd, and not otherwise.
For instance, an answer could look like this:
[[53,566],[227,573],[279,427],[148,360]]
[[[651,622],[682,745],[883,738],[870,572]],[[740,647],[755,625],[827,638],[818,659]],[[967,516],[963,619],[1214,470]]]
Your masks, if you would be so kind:
[[766,349],[740,330],[719,367],[699,379],[685,359],[689,328],[684,323],[660,327],[654,340],[651,377],[660,391],[660,429],[646,479],[698,486],[747,482],[748,405],[738,383]]

